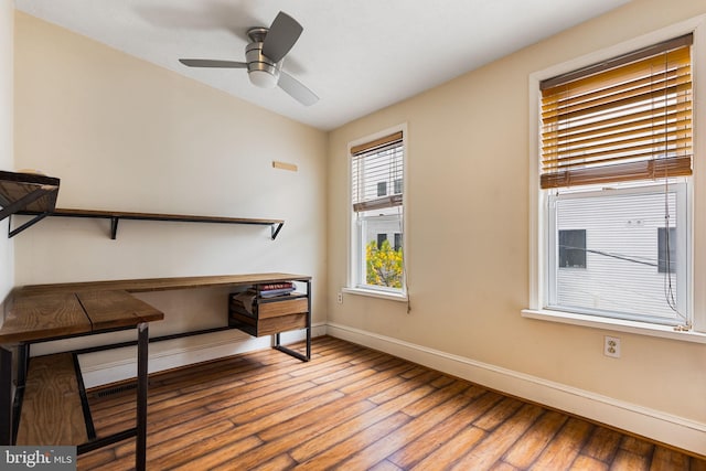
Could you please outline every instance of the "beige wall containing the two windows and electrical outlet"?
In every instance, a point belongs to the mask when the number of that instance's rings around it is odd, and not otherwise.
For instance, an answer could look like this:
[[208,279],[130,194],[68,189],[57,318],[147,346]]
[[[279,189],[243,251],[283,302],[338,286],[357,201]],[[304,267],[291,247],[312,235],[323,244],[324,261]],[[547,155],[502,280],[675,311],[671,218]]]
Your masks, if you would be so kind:
[[[614,360],[602,354],[609,331],[521,317],[530,297],[530,74],[703,13],[700,1],[633,1],[331,132],[329,322],[685,418],[706,431],[706,345],[623,332]],[[346,283],[346,144],[400,122],[408,125],[411,311],[355,295],[338,304]]]

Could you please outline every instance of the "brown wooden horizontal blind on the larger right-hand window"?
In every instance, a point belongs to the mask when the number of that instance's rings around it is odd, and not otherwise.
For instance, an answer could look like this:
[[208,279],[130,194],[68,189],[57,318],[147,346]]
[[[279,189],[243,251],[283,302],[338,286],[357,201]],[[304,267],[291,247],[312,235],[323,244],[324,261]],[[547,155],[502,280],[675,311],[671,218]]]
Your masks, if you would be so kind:
[[692,41],[544,81],[542,188],[692,174]]

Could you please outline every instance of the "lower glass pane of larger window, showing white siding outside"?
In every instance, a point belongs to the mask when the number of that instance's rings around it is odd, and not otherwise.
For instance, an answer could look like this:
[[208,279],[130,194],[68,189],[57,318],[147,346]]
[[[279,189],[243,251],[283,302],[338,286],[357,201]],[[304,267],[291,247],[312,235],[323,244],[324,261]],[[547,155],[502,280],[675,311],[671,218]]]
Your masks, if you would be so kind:
[[[597,315],[682,321],[684,314],[676,310],[684,300],[678,299],[677,288],[685,282],[685,271],[677,271],[675,247],[685,239],[678,238],[678,201],[677,193],[665,186],[552,196],[549,231],[557,246],[550,250],[557,256],[549,269],[549,303]],[[667,234],[665,221],[674,260],[668,266],[674,270],[660,269],[661,254],[667,251],[660,237]],[[584,269],[564,269],[567,265]]]

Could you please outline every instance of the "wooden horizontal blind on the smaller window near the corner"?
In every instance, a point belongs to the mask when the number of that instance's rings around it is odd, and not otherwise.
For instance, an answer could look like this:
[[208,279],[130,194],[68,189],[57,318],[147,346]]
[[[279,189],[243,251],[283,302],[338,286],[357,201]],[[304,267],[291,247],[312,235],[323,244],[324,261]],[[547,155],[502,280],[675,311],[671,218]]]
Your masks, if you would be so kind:
[[403,133],[395,132],[354,146],[352,156],[353,211],[400,206],[403,203]]

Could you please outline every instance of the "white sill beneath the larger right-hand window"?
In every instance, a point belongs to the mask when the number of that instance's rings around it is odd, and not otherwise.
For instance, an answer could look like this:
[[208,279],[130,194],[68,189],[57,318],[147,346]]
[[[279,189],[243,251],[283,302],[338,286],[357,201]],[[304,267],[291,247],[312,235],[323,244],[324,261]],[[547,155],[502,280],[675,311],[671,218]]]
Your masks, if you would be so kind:
[[550,311],[544,309],[523,309],[522,317],[541,321],[560,322],[571,325],[584,325],[593,329],[608,329],[618,332],[634,333],[638,335],[659,336],[663,339],[680,340],[706,344],[706,333],[675,331],[670,325],[649,324],[643,322],[625,321],[622,319],[596,318],[592,315],[576,314],[573,312]]

